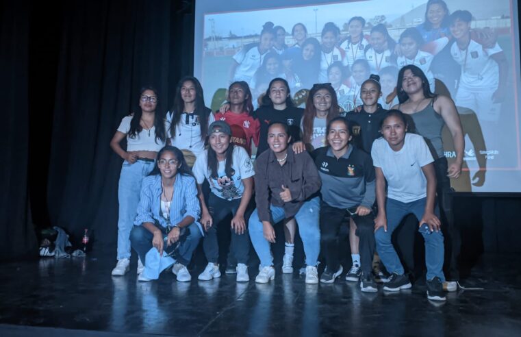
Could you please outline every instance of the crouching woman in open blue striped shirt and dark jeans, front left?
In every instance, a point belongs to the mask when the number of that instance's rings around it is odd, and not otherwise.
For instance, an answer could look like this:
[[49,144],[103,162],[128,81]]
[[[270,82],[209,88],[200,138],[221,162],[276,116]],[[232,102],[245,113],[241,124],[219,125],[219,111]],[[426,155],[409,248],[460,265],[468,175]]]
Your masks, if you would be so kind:
[[[130,241],[144,264],[138,281],[157,279],[174,264],[177,281],[189,282],[192,277],[186,266],[203,234],[196,221],[201,209],[195,179],[177,147],[167,146],[157,153],[157,164],[143,179],[137,210]],[[150,253],[153,248],[159,255]],[[166,255],[173,260],[164,262]]]

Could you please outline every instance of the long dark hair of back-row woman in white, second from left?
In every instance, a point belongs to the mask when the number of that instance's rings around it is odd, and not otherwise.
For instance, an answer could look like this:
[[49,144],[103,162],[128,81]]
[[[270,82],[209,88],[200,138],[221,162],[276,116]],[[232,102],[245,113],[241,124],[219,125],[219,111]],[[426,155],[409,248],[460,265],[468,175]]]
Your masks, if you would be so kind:
[[170,109],[172,113],[172,121],[170,123],[170,136],[175,138],[175,129],[181,121],[181,114],[184,111],[185,103],[181,97],[181,88],[184,82],[192,82],[195,87],[195,110],[194,114],[199,117],[199,125],[201,126],[201,140],[205,140],[208,134],[208,115],[210,110],[205,107],[205,99],[203,95],[203,87],[199,80],[193,76],[185,76],[177,82],[177,88],[175,89],[174,105]]

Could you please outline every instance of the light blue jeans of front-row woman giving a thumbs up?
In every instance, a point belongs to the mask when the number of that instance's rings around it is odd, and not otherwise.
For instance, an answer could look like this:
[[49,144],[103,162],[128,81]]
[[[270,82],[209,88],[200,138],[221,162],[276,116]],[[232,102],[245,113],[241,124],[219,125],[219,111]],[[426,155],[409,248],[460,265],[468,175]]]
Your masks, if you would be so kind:
[[[270,205],[272,224],[279,223],[285,219],[284,209]],[[307,266],[316,266],[318,253],[320,253],[320,199],[318,197],[306,201],[301,209],[295,214],[298,232],[301,234],[306,255]],[[272,266],[273,256],[271,254],[270,242],[264,238],[262,232],[262,221],[259,220],[257,209],[253,211],[248,223],[251,243],[259,255],[261,266]]]

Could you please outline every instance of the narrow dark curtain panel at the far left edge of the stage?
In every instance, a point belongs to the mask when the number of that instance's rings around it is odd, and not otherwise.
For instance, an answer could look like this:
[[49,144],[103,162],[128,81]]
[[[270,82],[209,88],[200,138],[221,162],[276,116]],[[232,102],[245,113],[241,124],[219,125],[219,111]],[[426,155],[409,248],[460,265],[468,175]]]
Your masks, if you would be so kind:
[[14,260],[37,253],[27,182],[29,3],[2,2],[0,13],[0,100],[7,128],[0,141],[0,260]]

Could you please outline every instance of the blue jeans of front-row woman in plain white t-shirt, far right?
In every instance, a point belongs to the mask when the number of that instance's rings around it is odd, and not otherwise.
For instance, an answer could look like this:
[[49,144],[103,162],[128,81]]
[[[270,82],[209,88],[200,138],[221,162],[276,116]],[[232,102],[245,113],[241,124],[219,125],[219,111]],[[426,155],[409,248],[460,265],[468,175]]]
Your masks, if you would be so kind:
[[[377,242],[377,251],[380,259],[390,273],[403,275],[405,271],[400,263],[398,254],[392,247],[391,236],[394,229],[400,225],[400,222],[407,214],[414,214],[418,221],[422,219],[425,211],[425,203],[427,198],[422,198],[410,203],[403,203],[398,200],[388,199],[385,203],[385,214],[387,215],[387,232],[383,228],[379,228],[374,234]],[[439,218],[440,210],[435,206],[434,214]],[[419,226],[416,227],[418,230]],[[443,260],[444,260],[444,245],[443,234],[440,232],[432,232],[431,234],[422,233],[425,240],[425,265],[427,266],[427,279],[431,280],[434,277],[440,277],[442,282],[445,282],[443,274]]]

